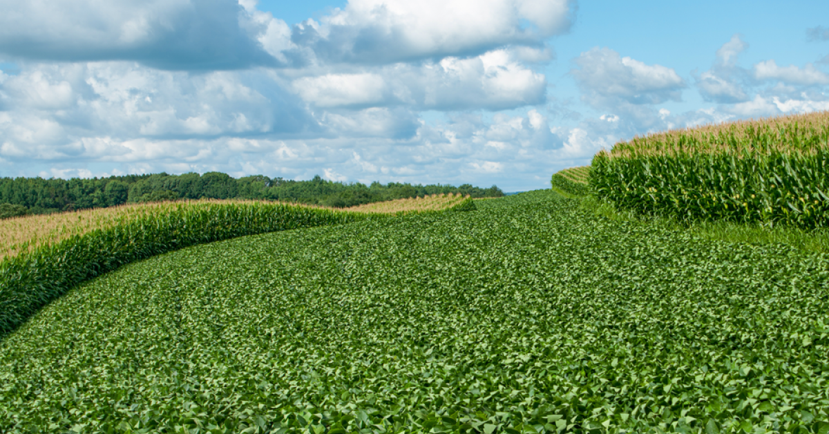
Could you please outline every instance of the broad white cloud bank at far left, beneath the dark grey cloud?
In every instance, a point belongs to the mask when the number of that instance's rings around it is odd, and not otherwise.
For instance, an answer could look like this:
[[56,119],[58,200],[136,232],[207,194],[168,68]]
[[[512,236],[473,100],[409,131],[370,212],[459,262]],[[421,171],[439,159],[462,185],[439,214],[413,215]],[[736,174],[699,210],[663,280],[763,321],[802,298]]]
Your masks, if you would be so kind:
[[125,62],[32,65],[3,78],[0,104],[13,107],[0,122],[0,154],[18,157],[104,156],[101,138],[322,131],[298,98],[259,71],[190,76]]

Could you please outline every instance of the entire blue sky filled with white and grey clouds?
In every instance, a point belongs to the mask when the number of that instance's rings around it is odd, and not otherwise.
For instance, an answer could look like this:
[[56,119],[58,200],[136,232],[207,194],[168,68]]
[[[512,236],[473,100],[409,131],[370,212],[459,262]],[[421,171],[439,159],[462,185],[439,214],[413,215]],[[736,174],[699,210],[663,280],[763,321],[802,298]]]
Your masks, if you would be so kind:
[[0,177],[549,186],[829,110],[829,2],[0,0]]

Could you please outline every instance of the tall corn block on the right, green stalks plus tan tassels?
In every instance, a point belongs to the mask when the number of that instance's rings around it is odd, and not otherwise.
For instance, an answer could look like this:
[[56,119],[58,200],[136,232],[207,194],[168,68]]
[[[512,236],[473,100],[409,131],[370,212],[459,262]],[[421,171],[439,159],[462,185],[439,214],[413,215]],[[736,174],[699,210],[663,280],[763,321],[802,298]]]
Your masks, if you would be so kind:
[[829,227],[829,112],[668,131],[597,154],[590,188],[681,221]]

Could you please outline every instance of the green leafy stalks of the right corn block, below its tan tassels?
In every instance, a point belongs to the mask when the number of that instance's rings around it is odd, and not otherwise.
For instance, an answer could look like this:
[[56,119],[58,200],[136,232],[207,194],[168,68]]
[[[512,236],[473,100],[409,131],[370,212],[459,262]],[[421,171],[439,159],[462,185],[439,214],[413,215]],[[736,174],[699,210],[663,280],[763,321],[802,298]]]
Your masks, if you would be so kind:
[[594,157],[590,187],[635,212],[768,226],[829,227],[829,151]]

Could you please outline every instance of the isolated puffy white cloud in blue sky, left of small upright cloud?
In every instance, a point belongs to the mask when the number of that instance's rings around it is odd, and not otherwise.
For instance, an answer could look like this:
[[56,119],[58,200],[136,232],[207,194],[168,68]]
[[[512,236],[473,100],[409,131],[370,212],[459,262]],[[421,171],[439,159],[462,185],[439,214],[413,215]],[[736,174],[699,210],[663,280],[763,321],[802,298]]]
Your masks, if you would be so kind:
[[609,48],[596,47],[574,62],[579,68],[570,74],[582,98],[595,106],[615,105],[619,100],[634,105],[679,101],[686,87],[673,69],[622,57]]

